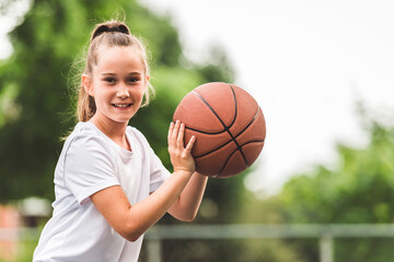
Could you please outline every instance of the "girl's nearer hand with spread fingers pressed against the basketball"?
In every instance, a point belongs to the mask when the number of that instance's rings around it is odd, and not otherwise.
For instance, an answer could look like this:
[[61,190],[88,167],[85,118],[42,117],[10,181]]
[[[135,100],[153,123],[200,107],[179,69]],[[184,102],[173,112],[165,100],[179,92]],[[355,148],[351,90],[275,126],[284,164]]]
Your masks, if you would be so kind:
[[171,122],[169,130],[169,153],[174,171],[188,171],[194,174],[196,164],[192,156],[192,148],[196,141],[193,135],[186,147],[184,147],[185,124],[179,120],[176,123]]

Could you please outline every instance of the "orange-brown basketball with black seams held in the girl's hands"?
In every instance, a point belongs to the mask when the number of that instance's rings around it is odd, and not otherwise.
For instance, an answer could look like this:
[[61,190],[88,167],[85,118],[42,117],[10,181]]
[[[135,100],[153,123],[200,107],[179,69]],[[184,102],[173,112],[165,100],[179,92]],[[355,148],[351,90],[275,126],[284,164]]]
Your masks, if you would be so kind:
[[192,155],[196,171],[205,176],[235,176],[252,166],[264,146],[263,111],[233,84],[215,82],[194,88],[181,100],[173,120],[185,123],[185,144],[196,135]]

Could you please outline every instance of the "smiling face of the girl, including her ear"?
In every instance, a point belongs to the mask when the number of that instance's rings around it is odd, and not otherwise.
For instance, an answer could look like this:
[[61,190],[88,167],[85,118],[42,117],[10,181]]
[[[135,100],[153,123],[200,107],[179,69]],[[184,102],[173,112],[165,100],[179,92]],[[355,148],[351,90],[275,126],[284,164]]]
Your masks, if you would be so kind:
[[92,75],[82,83],[94,97],[94,118],[107,123],[128,123],[138,111],[149,75],[144,73],[140,51],[136,47],[109,47],[99,50]]

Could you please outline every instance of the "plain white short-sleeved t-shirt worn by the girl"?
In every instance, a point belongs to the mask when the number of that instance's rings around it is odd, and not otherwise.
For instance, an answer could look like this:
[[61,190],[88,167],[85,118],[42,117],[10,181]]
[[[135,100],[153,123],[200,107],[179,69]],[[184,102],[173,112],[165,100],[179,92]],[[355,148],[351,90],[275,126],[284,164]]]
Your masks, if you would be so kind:
[[171,176],[137,129],[127,127],[126,135],[131,152],[91,122],[76,126],[56,166],[54,213],[44,227],[34,262],[138,260],[142,237],[135,242],[123,238],[90,200],[93,193],[120,184],[132,205]]

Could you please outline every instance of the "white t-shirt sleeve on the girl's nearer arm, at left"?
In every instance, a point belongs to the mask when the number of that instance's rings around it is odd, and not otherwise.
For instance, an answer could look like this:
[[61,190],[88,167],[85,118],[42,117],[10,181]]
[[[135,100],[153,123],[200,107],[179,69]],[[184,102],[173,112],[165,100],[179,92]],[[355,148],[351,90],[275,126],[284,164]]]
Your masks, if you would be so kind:
[[65,181],[80,204],[105,188],[117,186],[115,164],[106,142],[94,135],[77,135],[65,157]]

